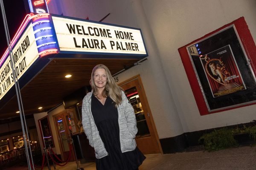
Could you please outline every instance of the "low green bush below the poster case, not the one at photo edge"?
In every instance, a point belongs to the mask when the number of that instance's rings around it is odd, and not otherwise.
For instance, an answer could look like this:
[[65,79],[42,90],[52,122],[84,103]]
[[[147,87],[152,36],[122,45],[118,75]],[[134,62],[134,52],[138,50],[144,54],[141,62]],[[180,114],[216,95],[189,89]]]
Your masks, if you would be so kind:
[[238,147],[237,141],[234,139],[232,129],[227,127],[206,133],[199,138],[199,142],[204,142],[204,148],[208,151],[221,150],[229,147]]

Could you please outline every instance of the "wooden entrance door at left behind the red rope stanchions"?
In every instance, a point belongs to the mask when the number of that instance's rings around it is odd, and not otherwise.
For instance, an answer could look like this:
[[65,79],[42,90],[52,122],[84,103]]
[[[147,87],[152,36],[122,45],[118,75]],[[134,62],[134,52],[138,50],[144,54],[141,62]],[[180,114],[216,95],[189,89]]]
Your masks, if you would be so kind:
[[[70,147],[72,148],[72,146],[70,146],[70,142],[71,142],[70,140],[72,136],[72,127],[71,127],[70,120],[73,119],[74,113],[75,113],[74,109],[67,109],[54,116],[55,127],[58,133],[58,142],[60,145],[62,161],[66,161],[68,159],[70,154]],[[75,157],[72,149],[70,161],[74,161],[74,160],[75,160]]]

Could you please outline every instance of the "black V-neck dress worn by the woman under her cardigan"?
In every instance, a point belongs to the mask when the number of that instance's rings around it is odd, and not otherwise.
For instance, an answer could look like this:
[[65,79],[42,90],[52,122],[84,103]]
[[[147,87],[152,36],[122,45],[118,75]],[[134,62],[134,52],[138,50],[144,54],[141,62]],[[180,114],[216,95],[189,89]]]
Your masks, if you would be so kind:
[[105,104],[92,95],[91,111],[108,156],[96,159],[97,170],[136,170],[145,156],[135,150],[122,153],[119,139],[118,112],[115,102],[107,97]]

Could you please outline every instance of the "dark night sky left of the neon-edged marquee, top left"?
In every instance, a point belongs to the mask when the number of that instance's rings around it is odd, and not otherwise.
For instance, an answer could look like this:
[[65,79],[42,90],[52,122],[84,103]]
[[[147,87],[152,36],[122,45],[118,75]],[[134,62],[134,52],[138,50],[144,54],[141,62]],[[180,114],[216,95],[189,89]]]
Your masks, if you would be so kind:
[[[14,37],[20,24],[26,16],[26,9],[23,0],[3,0],[10,38]],[[3,25],[2,11],[0,10],[0,58],[7,48],[6,34]]]

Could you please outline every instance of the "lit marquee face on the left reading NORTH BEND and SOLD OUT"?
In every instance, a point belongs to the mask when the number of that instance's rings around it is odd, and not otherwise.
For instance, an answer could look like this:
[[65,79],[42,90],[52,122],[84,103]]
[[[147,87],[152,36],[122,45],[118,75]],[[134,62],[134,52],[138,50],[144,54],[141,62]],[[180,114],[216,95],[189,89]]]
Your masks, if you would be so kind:
[[15,47],[12,48],[12,59],[15,63],[15,75],[12,73],[9,56],[6,57],[6,60],[0,67],[0,99],[2,99],[15,84],[14,76],[17,79],[20,79],[37,58],[38,48],[35,42],[32,23],[30,23],[26,30],[23,31],[23,35],[20,37]]

